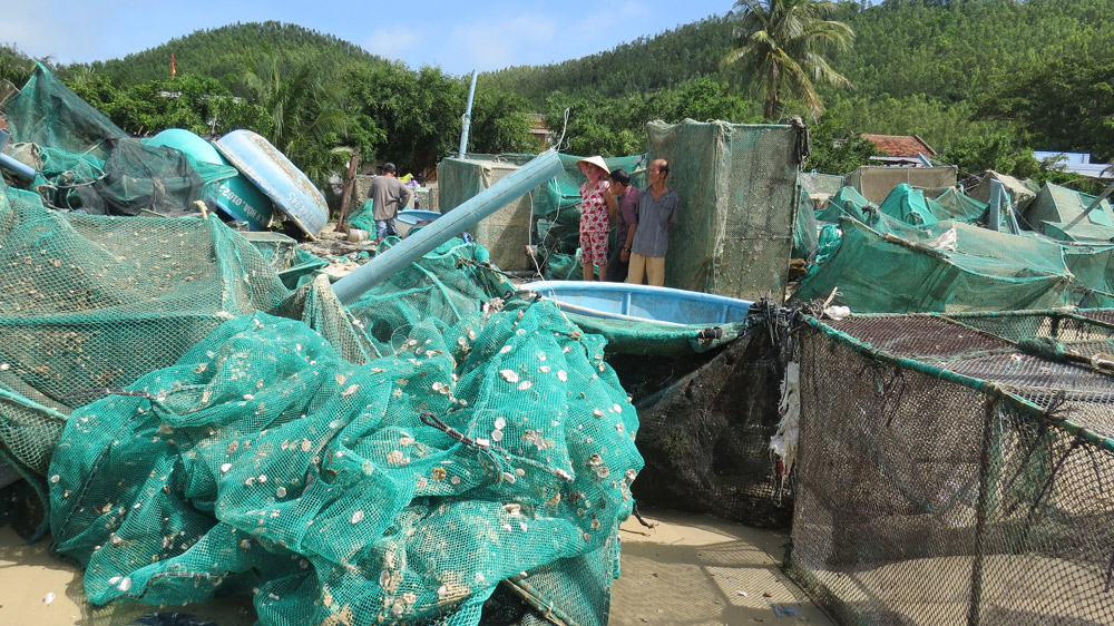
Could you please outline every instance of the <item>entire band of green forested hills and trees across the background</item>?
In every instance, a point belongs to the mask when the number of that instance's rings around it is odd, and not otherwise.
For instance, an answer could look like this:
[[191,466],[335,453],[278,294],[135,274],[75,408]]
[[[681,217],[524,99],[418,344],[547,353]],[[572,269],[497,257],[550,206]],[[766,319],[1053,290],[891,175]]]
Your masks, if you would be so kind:
[[[525,113],[546,116],[561,150],[605,156],[644,151],[652,119],[761,121],[756,81],[721,63],[735,23],[732,0],[720,9],[597,55],[482,75],[473,149],[536,149]],[[1114,159],[1114,0],[863,0],[839,3],[834,19],[857,40],[828,58],[854,89],[820,89],[827,111],[809,120],[808,168],[847,173],[863,163],[873,146],[854,140],[860,133],[917,134],[970,173],[1037,176],[1032,149]],[[0,46],[0,78],[21,85],[31,67]],[[252,128],[322,176],[344,166],[338,148],[346,147],[431,170],[457,145],[468,91],[463,77],[412,70],[280,22],[197,31],[124,59],[53,69],[128,133]],[[178,91],[173,102],[163,97]],[[779,116],[805,115],[783,102]]]

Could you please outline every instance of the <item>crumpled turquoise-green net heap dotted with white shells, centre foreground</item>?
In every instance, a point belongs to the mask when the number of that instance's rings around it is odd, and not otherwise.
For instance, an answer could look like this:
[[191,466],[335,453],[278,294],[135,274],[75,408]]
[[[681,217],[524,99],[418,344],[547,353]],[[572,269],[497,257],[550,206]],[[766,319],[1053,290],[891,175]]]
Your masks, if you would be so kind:
[[365,365],[257,313],[71,415],[51,531],[98,604],[456,625],[507,581],[522,619],[529,598],[605,624],[636,429],[602,340],[551,303],[419,324]]

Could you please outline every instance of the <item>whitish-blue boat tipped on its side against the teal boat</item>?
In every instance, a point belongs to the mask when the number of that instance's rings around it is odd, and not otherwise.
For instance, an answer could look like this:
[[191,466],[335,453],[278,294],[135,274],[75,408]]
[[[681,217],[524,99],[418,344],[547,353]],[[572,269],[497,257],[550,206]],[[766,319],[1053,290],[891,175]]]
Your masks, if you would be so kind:
[[216,140],[216,149],[311,238],[325,227],[325,196],[271,141],[251,130],[233,130]]

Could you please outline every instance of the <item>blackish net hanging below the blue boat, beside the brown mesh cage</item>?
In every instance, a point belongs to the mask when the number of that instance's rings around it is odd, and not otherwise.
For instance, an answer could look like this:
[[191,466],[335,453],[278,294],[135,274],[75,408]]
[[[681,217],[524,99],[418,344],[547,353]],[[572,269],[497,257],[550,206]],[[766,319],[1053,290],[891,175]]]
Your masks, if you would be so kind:
[[[620,376],[627,371],[615,366]],[[647,368],[645,359],[643,369],[671,371]],[[641,402],[638,449],[646,467],[632,486],[638,501],[761,528],[788,527],[792,495],[782,489],[770,453],[781,373],[771,335],[755,327]]]

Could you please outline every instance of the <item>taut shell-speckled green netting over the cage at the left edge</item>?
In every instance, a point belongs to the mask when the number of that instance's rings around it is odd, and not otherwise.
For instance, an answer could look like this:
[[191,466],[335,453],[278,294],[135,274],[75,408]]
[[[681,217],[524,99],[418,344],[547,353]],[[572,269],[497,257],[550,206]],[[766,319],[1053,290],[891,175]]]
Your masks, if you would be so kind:
[[50,212],[13,189],[0,203],[11,219],[0,248],[0,362],[58,402],[128,384],[227,319],[273,311],[289,295],[215,219]]

